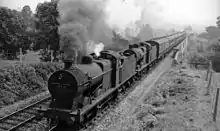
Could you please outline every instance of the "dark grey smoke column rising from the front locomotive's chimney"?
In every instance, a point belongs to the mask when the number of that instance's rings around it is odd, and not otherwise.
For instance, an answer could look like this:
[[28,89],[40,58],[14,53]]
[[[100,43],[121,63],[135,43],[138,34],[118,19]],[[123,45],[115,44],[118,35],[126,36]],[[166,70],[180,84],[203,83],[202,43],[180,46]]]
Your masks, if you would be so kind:
[[106,24],[105,3],[98,0],[60,0],[60,46],[66,58],[74,59],[76,50],[80,55],[91,53],[88,44],[111,44],[112,31]]

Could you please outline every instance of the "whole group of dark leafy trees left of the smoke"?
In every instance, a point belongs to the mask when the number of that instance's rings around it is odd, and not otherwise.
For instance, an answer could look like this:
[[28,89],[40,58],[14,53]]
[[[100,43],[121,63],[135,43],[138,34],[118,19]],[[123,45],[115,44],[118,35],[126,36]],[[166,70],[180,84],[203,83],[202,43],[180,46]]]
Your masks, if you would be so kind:
[[35,50],[59,50],[57,18],[58,0],[39,3],[33,14],[30,6],[21,11],[0,7],[0,48],[5,56],[16,58],[19,48],[23,53],[33,45]]

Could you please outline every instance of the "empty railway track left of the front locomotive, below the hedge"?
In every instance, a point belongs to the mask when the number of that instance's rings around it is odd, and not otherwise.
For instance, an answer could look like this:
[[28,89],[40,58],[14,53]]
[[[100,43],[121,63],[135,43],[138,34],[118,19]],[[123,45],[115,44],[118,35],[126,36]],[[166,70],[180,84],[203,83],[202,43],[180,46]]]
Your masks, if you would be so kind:
[[48,105],[49,102],[50,97],[46,97],[0,118],[0,131],[23,131],[30,127],[31,123],[37,119],[37,108],[39,108],[39,106]]

